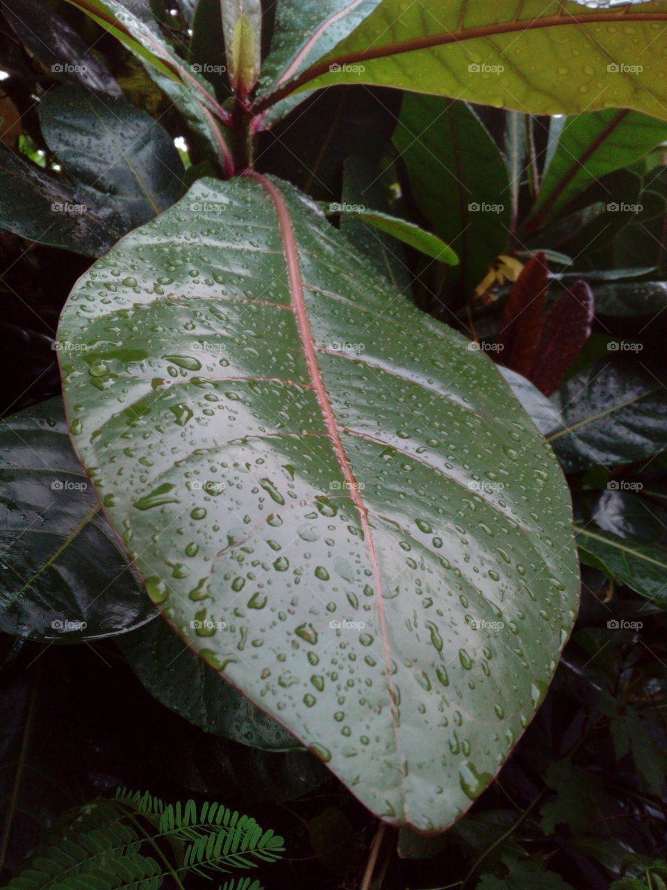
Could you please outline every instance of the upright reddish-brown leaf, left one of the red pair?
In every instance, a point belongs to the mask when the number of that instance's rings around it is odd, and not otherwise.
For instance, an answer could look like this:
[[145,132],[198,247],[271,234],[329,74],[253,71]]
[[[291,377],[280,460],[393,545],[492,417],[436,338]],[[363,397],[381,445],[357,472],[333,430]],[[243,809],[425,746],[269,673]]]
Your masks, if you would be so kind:
[[544,255],[535,254],[518,276],[502,313],[498,361],[525,377],[530,376],[542,337],[548,282]]

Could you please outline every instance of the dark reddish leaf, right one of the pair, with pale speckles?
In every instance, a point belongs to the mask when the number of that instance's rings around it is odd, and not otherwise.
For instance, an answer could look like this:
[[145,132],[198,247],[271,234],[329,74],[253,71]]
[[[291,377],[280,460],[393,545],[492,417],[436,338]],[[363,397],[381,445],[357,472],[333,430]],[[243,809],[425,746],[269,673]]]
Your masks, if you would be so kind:
[[556,392],[591,336],[593,304],[591,288],[585,281],[575,281],[544,316],[534,366],[527,375],[544,395]]

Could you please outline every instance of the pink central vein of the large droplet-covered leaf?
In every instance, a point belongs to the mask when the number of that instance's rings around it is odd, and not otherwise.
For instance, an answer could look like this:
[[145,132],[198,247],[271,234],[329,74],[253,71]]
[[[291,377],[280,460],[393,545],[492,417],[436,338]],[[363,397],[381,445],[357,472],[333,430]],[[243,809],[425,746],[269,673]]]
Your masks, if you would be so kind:
[[348,482],[350,489],[350,498],[352,498],[355,506],[358,509],[359,517],[361,519],[361,526],[364,530],[364,538],[366,539],[366,544],[368,546],[368,551],[371,559],[371,565],[373,567],[375,591],[377,594],[378,615],[380,618],[382,643],[384,644],[384,660],[387,670],[387,680],[389,684],[391,699],[391,716],[394,722],[394,731],[396,733],[396,747],[401,763],[401,773],[403,778],[405,778],[406,760],[403,756],[400,737],[398,735],[397,694],[394,687],[392,674],[391,647],[389,643],[389,635],[387,632],[387,616],[384,606],[384,597],[382,595],[382,574],[380,571],[380,562],[378,560],[377,550],[375,549],[375,541],[373,532],[371,530],[371,525],[368,521],[368,511],[366,509],[364,501],[359,494],[357,480],[355,479],[355,475],[352,472],[350,461],[345,454],[345,449],[343,448],[341,435],[339,433],[338,423],[336,422],[335,415],[333,414],[333,408],[331,406],[331,402],[329,401],[329,396],[326,392],[325,382],[322,379],[322,372],[320,371],[319,365],[317,364],[317,352],[315,351],[315,344],[313,342],[312,331],[310,329],[308,310],[306,309],[306,301],[303,295],[303,279],[301,278],[301,266],[299,265],[299,254],[296,247],[296,240],[294,239],[292,219],[290,217],[289,210],[287,209],[287,205],[285,204],[285,198],[283,198],[280,190],[277,189],[273,182],[270,182],[270,180],[267,179],[265,176],[257,174],[253,170],[248,170],[245,172],[245,174],[252,177],[257,182],[261,183],[262,188],[267,191],[267,193],[269,194],[269,198],[271,198],[274,206],[276,207],[277,220],[280,227],[280,235],[283,240],[283,247],[285,249],[285,263],[287,265],[287,278],[289,280],[290,294],[292,295],[293,311],[296,315],[297,326],[299,328],[299,336],[301,337],[303,352],[306,356],[306,363],[308,365],[310,380],[313,384],[313,389],[317,394],[317,401],[319,402],[322,416],[325,420],[327,433],[329,434],[329,438],[331,439],[333,444],[333,450],[335,451],[336,457],[338,458],[338,463],[341,465],[342,473],[345,476],[345,481]]

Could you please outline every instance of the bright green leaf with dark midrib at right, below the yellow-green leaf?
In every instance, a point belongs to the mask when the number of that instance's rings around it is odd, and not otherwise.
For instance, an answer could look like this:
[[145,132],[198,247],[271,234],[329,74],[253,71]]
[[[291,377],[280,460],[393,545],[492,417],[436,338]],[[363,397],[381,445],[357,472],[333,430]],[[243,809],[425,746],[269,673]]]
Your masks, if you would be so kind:
[[[667,123],[628,109],[570,117],[542,181],[528,228],[539,229],[601,176],[631,166],[667,139]],[[609,195],[609,206],[615,205]]]

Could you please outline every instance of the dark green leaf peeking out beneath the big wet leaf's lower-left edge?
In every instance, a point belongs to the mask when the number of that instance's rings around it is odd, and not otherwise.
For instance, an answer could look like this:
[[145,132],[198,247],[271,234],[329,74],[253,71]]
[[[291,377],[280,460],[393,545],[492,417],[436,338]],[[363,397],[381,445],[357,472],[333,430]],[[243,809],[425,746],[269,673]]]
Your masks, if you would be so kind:
[[302,748],[290,732],[229,685],[157,619],[117,644],[153,698],[205,732],[264,750]]

